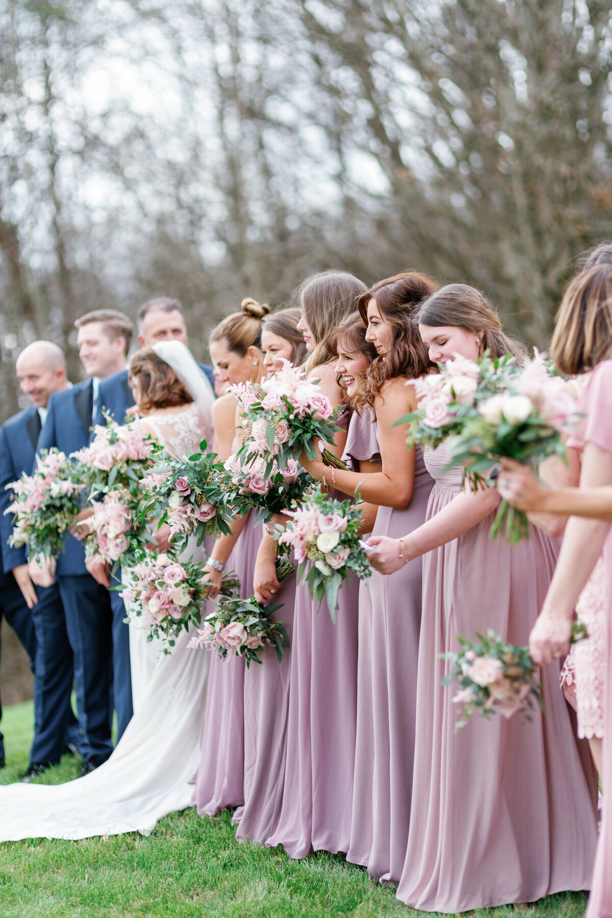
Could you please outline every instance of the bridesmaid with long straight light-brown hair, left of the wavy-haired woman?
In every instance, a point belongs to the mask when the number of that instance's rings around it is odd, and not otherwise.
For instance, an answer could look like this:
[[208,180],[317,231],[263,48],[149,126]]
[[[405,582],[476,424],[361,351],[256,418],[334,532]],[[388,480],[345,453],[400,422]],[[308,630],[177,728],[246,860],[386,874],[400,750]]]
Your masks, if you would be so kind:
[[[330,353],[329,331],[346,319],[365,285],[351,274],[309,278],[300,290],[306,370],[321,380],[333,404],[341,393]],[[346,435],[337,434],[342,449]],[[330,477],[330,476],[329,476]],[[339,590],[336,624],[325,599],[317,610],[305,586],[295,590],[287,747],[283,800],[266,845],[284,845],[291,857],[312,850],[347,851],[351,835],[352,778],[357,694],[359,583]]]

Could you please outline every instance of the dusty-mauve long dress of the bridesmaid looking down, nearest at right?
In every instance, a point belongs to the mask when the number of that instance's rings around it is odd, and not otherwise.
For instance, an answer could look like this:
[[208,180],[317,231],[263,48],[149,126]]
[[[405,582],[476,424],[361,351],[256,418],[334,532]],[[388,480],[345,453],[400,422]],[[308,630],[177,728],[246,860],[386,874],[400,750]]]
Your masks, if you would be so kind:
[[[426,451],[436,485],[428,519],[462,490],[462,470],[444,471],[448,447]],[[426,912],[465,912],[532,902],[591,883],[597,838],[595,769],[573,730],[559,662],[541,672],[546,714],[474,713],[455,730],[456,686],[442,688],[457,635],[491,628],[529,643],[554,571],[559,540],[534,526],[511,548],[491,541],[495,513],[423,563],[417,673],[417,737],[406,863],[397,898]]]

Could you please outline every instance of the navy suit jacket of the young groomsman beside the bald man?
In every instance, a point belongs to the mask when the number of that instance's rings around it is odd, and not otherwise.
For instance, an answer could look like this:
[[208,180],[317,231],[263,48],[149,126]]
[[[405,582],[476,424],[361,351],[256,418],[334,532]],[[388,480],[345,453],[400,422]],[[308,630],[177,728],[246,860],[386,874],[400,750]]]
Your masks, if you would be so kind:
[[[83,449],[90,440],[93,407],[94,384],[91,379],[77,383],[72,389],[54,392],[49,399],[47,420],[40,431],[37,452],[57,446],[62,453],[70,455]],[[82,543],[68,533],[64,548],[65,551],[60,552],[58,557],[58,576],[87,574]]]

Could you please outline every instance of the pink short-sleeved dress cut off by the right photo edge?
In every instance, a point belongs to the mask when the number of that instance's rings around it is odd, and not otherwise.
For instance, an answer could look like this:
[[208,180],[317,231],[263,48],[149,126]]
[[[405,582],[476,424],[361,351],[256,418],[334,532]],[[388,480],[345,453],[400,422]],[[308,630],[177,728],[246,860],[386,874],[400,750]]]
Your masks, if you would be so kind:
[[[612,361],[597,364],[584,399],[584,442],[612,453]],[[604,545],[606,573],[606,687],[604,693],[604,811],[595,858],[591,896],[584,918],[612,918],[612,530]]]

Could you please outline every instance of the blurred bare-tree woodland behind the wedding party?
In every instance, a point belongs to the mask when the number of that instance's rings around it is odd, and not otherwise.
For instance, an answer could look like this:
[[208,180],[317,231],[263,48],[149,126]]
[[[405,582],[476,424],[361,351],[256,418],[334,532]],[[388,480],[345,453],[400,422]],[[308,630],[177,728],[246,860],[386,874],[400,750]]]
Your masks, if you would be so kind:
[[203,358],[328,267],[464,279],[545,346],[612,237],[611,62],[609,0],[0,0],[0,420],[28,341],[81,377],[85,311],[179,297]]

